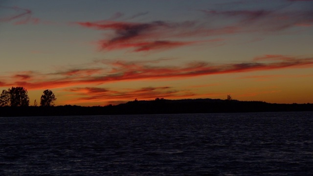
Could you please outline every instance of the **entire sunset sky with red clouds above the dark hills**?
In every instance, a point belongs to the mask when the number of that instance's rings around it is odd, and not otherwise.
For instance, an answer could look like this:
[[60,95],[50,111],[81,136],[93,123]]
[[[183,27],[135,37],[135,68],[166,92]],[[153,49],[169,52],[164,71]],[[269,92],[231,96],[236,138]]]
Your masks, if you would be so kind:
[[0,90],[56,105],[313,103],[313,0],[0,0]]

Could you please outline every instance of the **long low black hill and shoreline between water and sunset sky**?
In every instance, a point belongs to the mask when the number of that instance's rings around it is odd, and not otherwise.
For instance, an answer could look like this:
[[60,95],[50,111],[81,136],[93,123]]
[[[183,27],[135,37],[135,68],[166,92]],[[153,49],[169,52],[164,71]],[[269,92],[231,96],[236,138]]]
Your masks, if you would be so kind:
[[276,104],[261,101],[221,99],[156,99],[108,106],[0,107],[2,116],[61,116],[110,114],[170,114],[216,112],[313,111],[313,104]]

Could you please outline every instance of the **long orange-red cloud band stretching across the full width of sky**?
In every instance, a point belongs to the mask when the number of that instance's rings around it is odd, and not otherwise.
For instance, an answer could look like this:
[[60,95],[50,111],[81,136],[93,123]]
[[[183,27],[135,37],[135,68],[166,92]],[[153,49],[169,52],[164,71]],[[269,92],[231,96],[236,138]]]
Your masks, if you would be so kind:
[[[100,68],[103,66],[102,68]],[[31,80],[2,81],[8,86],[23,86],[28,89],[64,88],[77,85],[105,84],[117,81],[142,79],[171,79],[187,77],[249,72],[259,70],[313,67],[313,58],[298,58],[282,55],[265,55],[251,62],[240,64],[209,64],[193,62],[185,66],[158,66],[155,61],[147,62],[103,62],[97,63],[96,69],[69,69],[50,74],[32,75]],[[111,67],[111,70],[108,70]],[[14,74],[16,75],[16,74]],[[53,77],[51,76],[53,75]],[[55,78],[57,77],[57,79]]]

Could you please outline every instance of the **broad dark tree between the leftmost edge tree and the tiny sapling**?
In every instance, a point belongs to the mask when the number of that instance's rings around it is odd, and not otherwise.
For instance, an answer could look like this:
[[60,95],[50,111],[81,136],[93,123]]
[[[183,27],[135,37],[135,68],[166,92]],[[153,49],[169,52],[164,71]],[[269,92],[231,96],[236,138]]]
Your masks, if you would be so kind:
[[29,106],[28,91],[23,87],[12,87],[8,89],[11,106]]

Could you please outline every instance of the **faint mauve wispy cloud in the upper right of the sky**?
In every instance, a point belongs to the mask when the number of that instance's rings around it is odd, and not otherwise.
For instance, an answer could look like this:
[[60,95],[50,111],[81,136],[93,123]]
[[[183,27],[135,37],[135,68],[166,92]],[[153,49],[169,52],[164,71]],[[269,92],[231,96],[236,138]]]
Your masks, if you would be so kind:
[[[232,22],[235,32],[276,32],[296,26],[310,26],[313,10],[201,10],[210,19]],[[221,19],[222,18],[222,19]]]

